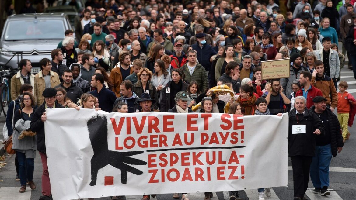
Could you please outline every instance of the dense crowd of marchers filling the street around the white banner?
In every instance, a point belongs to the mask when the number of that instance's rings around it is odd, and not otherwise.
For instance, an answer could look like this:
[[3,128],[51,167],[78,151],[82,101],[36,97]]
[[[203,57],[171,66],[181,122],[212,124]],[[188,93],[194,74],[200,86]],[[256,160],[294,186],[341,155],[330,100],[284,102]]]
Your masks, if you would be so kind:
[[[341,3],[88,0],[75,19],[75,31],[65,32],[52,59],[40,60],[41,71],[32,74],[31,60],[23,59],[11,78],[6,125],[14,136],[20,192],[26,180],[36,188],[38,151],[40,200],[51,198],[45,110],[67,107],[121,113],[289,112],[294,200],[305,199],[309,174],[313,193],[329,195],[329,163],[349,140],[356,106],[347,83],[340,81],[345,53],[338,49],[342,41],[356,79],[355,7],[350,0]],[[262,80],[261,62],[288,58],[288,78]],[[228,86],[233,97],[210,89],[216,85]],[[23,131],[37,134],[20,139]],[[258,195],[263,200],[271,191],[261,188]],[[142,200],[150,196],[155,195]],[[204,200],[211,197],[206,192]],[[181,198],[189,200],[186,193]],[[239,191],[230,191],[230,200],[236,199]]]

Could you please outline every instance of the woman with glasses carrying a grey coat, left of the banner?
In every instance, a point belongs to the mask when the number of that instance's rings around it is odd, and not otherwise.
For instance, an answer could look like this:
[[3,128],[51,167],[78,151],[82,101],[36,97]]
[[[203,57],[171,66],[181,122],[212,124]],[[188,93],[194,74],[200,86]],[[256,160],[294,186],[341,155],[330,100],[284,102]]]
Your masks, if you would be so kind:
[[25,92],[21,98],[21,109],[14,114],[14,131],[12,149],[16,151],[19,161],[20,193],[26,191],[26,182],[31,190],[36,189],[33,182],[34,160],[36,158],[36,133],[30,130],[30,123],[35,112],[35,98],[31,93]]

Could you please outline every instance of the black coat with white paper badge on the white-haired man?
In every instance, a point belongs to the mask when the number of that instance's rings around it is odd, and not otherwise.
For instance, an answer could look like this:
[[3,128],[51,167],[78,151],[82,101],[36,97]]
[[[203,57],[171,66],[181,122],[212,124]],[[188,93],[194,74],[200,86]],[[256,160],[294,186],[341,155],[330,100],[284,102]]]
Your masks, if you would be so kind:
[[[297,119],[295,108],[289,112],[289,129],[288,129],[288,154],[291,156],[315,156],[315,134],[319,129],[324,135],[325,127],[318,115],[304,110],[302,119]],[[298,123],[299,122],[299,123]],[[293,125],[306,125],[305,134],[292,134]]]

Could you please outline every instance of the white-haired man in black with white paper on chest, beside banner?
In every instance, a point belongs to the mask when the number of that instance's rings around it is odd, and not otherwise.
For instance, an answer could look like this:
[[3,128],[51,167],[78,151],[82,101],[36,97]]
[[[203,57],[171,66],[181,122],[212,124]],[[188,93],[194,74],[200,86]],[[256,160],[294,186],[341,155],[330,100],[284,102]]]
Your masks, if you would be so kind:
[[297,96],[289,112],[288,154],[292,160],[294,200],[304,198],[308,189],[310,164],[315,156],[315,135],[324,135],[320,118],[306,109],[307,99]]

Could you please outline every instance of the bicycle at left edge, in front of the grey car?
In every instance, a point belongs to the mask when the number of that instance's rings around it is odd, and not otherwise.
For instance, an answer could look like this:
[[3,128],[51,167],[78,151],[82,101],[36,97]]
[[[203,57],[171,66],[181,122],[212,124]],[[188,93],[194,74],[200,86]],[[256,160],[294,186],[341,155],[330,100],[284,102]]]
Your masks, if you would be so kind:
[[5,117],[6,117],[6,112],[4,108],[6,106],[9,106],[11,102],[10,87],[9,87],[9,79],[11,78],[11,72],[13,72],[13,70],[10,69],[0,70],[0,115],[2,111]]

